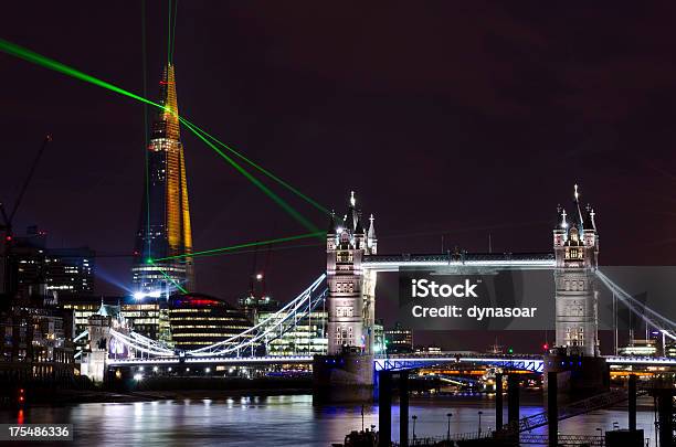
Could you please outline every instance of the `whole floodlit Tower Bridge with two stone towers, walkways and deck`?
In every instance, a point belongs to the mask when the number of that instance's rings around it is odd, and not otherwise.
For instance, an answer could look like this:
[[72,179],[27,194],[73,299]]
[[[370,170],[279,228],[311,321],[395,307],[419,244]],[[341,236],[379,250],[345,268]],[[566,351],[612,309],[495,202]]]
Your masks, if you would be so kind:
[[[379,254],[374,219],[362,224],[361,211],[353,193],[348,212],[342,219],[331,215],[327,230],[326,273],[320,275],[298,297],[285,305],[270,319],[239,336],[213,345],[192,351],[175,351],[161,341],[146,339],[133,331],[96,328],[98,339],[92,345],[124,345],[126,354],[110,354],[104,360],[108,369],[173,368],[172,365],[274,365],[313,364],[318,387],[369,389],[373,372],[381,369],[410,369],[453,362],[520,369],[540,373],[547,369],[577,374],[574,370],[606,371],[609,365],[668,365],[674,359],[603,358],[598,340],[598,284],[611,288],[620,299],[631,297],[599,272],[599,234],[594,212],[582,207],[575,188],[572,212],[557,209],[553,228],[553,252],[548,253],[465,253],[442,254]],[[476,268],[551,270],[554,280],[556,322],[554,349],[547,355],[406,355],[385,358],[374,355],[373,323],[376,286],[379,273],[402,268],[451,268],[458,273]],[[600,280],[599,280],[600,279]],[[624,295],[623,295],[624,294]],[[624,296],[624,298],[623,298]],[[324,356],[271,356],[267,344],[292,330],[317,306],[328,309],[328,352]],[[627,301],[627,306],[631,306]],[[652,320],[670,336],[672,327]],[[94,331],[93,331],[94,332]],[[103,340],[103,342],[102,342]],[[104,348],[105,349],[105,348]],[[122,352],[122,351],[120,351]],[[584,363],[584,364],[583,364]],[[103,366],[103,365],[102,365]],[[583,366],[583,368],[578,368]],[[578,371],[579,373],[579,371]],[[599,377],[587,377],[596,386]],[[596,381],[596,382],[594,382]]]

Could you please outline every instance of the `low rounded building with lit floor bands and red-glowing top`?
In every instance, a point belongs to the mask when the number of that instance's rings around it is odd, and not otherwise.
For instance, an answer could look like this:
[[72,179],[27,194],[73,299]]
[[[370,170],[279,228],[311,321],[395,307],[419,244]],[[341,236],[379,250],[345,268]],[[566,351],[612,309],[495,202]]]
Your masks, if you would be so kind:
[[[243,311],[222,299],[202,294],[171,296],[169,322],[173,347],[183,351],[226,340],[252,327]],[[250,333],[244,337],[253,336]]]

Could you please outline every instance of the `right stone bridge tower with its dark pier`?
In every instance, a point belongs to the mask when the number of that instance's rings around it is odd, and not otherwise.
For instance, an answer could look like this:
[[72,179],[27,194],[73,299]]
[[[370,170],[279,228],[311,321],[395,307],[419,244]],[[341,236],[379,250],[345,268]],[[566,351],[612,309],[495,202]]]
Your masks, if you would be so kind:
[[560,392],[568,395],[608,389],[610,373],[600,356],[599,309],[595,287],[599,233],[591,205],[580,205],[578,185],[570,212],[557,209],[553,228],[556,345],[546,355],[545,370],[559,374]]

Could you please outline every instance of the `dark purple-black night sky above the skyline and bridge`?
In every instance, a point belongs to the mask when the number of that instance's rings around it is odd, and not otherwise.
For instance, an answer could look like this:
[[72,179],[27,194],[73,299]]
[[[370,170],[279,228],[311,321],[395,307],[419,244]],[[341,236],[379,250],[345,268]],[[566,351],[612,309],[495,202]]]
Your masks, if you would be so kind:
[[[157,99],[168,8],[146,9]],[[675,22],[674,2],[179,1],[179,110],[339,214],[355,190],[376,214],[380,253],[440,252],[442,235],[487,251],[488,234],[497,252],[549,251],[556,206],[577,182],[598,212],[602,264],[670,265]],[[0,38],[142,94],[138,1],[9,2]],[[54,138],[17,231],[38,224],[51,246],[92,246],[98,292],[124,292],[131,258],[105,255],[134,247],[142,106],[6,54],[0,79],[0,199],[14,200],[44,134]],[[182,136],[197,251],[306,232]],[[275,190],[325,228],[326,216]],[[198,289],[234,301],[254,262],[286,301],[325,254],[201,258]],[[388,281],[378,315],[391,323]]]

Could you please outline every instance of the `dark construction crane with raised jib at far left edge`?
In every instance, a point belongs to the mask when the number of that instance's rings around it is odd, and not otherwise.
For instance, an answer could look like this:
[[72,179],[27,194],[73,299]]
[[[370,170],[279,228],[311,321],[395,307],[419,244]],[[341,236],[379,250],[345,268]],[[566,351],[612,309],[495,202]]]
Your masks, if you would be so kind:
[[12,253],[13,236],[14,236],[12,232],[12,222],[14,221],[17,211],[19,210],[19,206],[21,205],[23,195],[25,194],[25,191],[28,190],[28,187],[31,183],[31,180],[33,179],[33,174],[35,173],[35,168],[38,168],[38,163],[40,162],[40,159],[42,158],[44,150],[46,149],[47,145],[51,141],[52,141],[51,135],[45,136],[44,140],[42,140],[40,150],[38,151],[38,155],[35,156],[35,158],[33,159],[33,163],[31,164],[31,169],[29,170],[28,177],[23,181],[23,184],[21,185],[21,190],[19,191],[19,195],[17,196],[17,200],[14,201],[14,205],[9,211],[9,214],[3,203],[0,203],[0,216],[2,217],[2,222],[0,222],[0,231],[4,232],[4,237],[2,238],[2,244],[1,244],[2,256],[0,257],[3,264],[3,269],[2,269],[3,280],[2,280],[1,291],[9,295],[10,297],[12,297],[17,292],[17,286],[18,286],[17,268],[15,268],[17,266],[14,265],[15,264],[14,256]]

